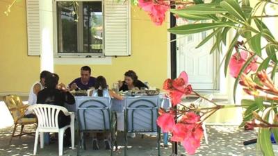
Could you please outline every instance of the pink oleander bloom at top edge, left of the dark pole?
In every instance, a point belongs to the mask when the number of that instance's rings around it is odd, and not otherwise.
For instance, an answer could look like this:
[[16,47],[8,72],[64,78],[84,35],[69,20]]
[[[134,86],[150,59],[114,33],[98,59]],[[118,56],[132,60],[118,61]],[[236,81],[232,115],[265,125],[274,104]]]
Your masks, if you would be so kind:
[[145,10],[149,13],[154,24],[160,26],[165,20],[165,12],[170,9],[169,3],[165,3],[162,0],[156,1],[153,0],[139,0],[138,5],[142,10]]

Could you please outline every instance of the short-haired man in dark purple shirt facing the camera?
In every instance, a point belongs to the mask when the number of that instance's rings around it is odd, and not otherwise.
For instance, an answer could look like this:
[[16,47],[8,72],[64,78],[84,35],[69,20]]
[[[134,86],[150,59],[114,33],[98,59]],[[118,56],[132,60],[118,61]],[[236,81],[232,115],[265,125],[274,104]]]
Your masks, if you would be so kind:
[[96,78],[90,76],[91,69],[88,66],[84,66],[81,68],[81,78],[76,78],[75,80],[70,83],[69,87],[70,90],[88,90],[90,87],[95,86]]

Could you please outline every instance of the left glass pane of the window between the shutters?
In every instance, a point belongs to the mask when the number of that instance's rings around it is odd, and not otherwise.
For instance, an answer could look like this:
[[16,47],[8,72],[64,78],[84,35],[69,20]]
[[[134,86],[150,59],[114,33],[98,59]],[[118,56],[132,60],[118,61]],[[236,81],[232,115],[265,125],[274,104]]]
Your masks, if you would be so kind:
[[77,23],[73,2],[57,2],[58,53],[77,52]]

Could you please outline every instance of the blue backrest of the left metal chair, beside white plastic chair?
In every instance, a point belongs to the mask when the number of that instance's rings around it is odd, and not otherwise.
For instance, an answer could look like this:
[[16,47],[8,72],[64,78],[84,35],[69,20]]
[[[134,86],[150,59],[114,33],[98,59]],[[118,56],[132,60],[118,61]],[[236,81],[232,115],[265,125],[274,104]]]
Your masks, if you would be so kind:
[[76,98],[80,130],[110,130],[111,103],[108,97]]

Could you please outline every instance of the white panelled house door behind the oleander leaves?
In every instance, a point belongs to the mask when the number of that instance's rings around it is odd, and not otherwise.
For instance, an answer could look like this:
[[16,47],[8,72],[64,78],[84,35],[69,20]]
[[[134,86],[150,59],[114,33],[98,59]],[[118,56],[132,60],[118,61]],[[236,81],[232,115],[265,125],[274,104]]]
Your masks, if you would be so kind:
[[[184,21],[179,19],[177,23],[182,24]],[[177,76],[181,71],[186,71],[193,89],[217,89],[215,83],[217,55],[209,53],[213,46],[213,39],[195,49],[209,33],[211,32],[177,35]]]

